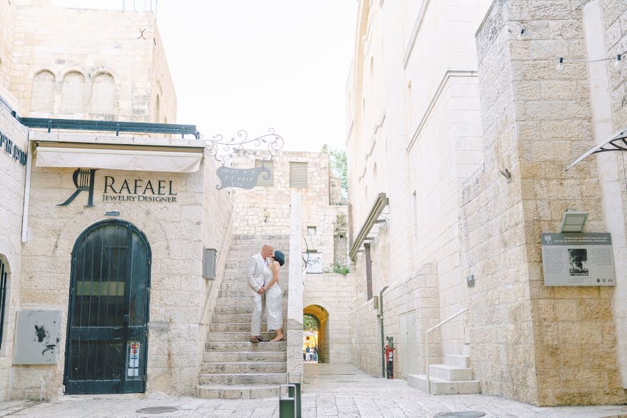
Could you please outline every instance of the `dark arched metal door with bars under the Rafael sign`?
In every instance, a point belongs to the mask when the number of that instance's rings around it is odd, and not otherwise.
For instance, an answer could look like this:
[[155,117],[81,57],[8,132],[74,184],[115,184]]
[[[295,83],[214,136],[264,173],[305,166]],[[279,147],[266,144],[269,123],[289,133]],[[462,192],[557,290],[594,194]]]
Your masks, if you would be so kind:
[[146,390],[150,245],[129,222],[88,227],[72,249],[66,394]]

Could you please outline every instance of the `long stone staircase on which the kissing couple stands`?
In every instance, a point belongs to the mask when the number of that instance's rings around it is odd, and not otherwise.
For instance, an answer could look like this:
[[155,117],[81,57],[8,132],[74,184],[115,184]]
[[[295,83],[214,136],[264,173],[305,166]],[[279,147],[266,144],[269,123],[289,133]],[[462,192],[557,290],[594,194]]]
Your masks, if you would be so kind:
[[[286,255],[279,286],[287,318],[289,235],[234,235],[207,334],[199,375],[201,398],[268,398],[278,396],[279,385],[286,382],[286,341],[249,341],[252,304],[246,293],[246,269],[250,256],[261,251],[265,242]],[[261,330],[266,338],[274,337],[273,332],[263,332],[267,330],[265,316]]]

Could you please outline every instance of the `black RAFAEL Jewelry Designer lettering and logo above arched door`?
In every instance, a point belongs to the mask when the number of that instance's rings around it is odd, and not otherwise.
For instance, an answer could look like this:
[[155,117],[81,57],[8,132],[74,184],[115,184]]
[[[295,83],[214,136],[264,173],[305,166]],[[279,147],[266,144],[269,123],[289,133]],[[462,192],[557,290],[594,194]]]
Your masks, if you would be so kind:
[[[77,169],[72,174],[72,180],[76,186],[75,192],[68,200],[57,206],[68,206],[82,192],[88,192],[87,204],[93,205],[93,192],[95,172],[97,169]],[[127,201],[127,202],[176,202],[177,193],[173,189],[173,180],[154,180],[143,178],[116,178],[104,176],[103,202]]]

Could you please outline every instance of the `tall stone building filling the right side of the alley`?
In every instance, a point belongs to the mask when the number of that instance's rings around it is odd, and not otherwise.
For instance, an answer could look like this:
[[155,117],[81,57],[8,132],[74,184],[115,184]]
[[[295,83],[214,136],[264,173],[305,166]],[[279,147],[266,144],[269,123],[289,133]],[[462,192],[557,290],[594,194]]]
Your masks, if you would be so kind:
[[[564,169],[624,128],[625,70],[612,57],[625,13],[619,1],[361,2],[350,245],[376,195],[389,205],[369,240],[377,300],[366,254],[355,258],[354,364],[380,374],[382,337],[394,336],[398,376],[420,385],[410,376],[424,373],[424,332],[467,309],[431,334],[431,364],[463,357],[482,393],[527,403],[624,403],[621,153]],[[545,286],[540,234],[559,231],[566,209],[588,212],[586,232],[612,234],[616,286]]]

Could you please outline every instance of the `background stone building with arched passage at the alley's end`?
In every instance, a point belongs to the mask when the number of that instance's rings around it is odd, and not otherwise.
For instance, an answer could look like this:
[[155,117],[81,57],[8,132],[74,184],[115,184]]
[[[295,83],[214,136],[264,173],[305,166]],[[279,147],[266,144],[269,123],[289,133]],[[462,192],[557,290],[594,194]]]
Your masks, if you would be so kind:
[[235,159],[233,167],[262,164],[270,169],[270,179],[263,180],[262,175],[258,187],[233,192],[233,233],[287,233],[290,196],[292,192],[300,194],[302,262],[307,272],[303,277],[304,314],[314,316],[320,325],[320,361],[349,362],[348,311],[354,277],[346,274],[348,208],[342,200],[340,180],[330,170],[327,153],[282,151],[271,162],[247,155]]

